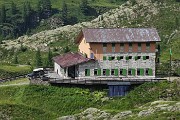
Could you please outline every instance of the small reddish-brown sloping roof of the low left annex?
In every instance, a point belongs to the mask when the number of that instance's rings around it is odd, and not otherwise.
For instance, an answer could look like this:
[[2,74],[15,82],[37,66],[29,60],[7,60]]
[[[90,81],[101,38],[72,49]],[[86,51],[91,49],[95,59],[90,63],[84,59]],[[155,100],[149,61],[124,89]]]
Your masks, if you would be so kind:
[[62,68],[70,67],[80,63],[88,62],[91,59],[84,57],[81,53],[66,53],[53,58],[53,60]]

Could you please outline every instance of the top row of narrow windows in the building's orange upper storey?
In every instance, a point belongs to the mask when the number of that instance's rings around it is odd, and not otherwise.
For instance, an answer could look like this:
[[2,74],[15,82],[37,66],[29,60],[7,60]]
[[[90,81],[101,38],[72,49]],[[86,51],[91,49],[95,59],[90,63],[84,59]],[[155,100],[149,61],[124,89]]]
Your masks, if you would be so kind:
[[[128,43],[129,47],[128,47],[128,51],[132,52],[132,48],[133,45],[132,43]],[[124,52],[124,43],[120,43],[120,52]],[[141,43],[138,43],[138,51],[141,52],[142,50],[142,45]],[[146,43],[146,52],[149,52],[150,50],[150,43],[147,42]],[[107,52],[107,43],[103,43],[103,52],[106,53]],[[115,52],[115,43],[112,43],[112,52]]]

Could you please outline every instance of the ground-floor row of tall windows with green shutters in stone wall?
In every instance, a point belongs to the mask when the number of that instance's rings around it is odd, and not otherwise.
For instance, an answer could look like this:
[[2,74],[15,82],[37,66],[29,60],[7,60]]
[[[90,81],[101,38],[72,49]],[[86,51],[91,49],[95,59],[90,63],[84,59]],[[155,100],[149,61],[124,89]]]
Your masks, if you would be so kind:
[[[130,68],[130,69],[94,69],[94,76],[152,76],[153,71],[150,68]],[[85,76],[90,76],[90,69],[85,69]]]

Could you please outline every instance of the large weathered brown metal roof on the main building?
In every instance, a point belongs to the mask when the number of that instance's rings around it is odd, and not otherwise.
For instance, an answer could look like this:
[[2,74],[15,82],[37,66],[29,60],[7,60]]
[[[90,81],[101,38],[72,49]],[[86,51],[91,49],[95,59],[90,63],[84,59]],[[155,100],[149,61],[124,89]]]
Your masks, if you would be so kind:
[[82,30],[82,33],[86,42],[116,43],[160,41],[160,37],[155,28],[85,28]]

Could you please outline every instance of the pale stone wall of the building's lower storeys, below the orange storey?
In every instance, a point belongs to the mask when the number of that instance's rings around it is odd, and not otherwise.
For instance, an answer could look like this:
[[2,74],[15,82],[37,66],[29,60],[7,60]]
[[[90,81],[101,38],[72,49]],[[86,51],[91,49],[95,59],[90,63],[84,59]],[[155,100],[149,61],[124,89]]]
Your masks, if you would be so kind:
[[[79,77],[85,76],[85,69],[90,69],[90,77],[94,76],[94,69],[126,69],[133,68],[136,70],[135,76],[126,77],[155,77],[155,53],[115,53],[115,54],[104,54],[107,60],[99,60],[95,62],[88,62],[79,65]],[[108,57],[114,56],[115,60],[108,60]],[[123,56],[122,60],[117,60],[118,56]],[[126,60],[126,56],[132,56],[132,59]],[[141,59],[135,60],[135,56],[141,56]],[[149,56],[149,59],[143,60],[143,56]],[[152,76],[137,76],[137,68],[150,68],[152,69]],[[110,75],[111,76],[111,75]],[[119,77],[122,77],[119,75]]]

